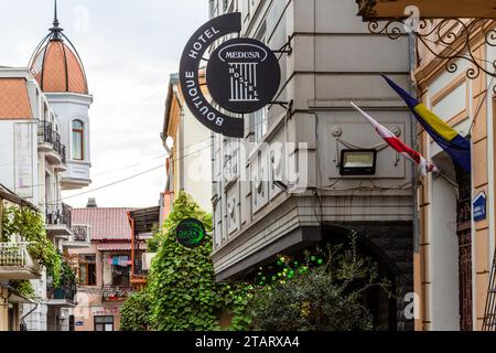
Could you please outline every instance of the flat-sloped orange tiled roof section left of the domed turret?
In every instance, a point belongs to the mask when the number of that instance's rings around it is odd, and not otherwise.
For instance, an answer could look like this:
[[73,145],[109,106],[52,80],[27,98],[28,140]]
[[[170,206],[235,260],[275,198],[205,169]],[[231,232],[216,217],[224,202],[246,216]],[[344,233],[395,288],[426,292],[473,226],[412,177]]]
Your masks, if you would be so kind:
[[0,78],[0,119],[32,119],[25,78]]

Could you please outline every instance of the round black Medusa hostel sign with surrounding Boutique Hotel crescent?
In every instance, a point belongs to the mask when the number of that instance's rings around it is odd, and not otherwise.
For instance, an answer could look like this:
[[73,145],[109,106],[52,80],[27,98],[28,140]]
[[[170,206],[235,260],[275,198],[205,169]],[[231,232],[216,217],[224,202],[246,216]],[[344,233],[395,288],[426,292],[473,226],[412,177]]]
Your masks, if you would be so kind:
[[[187,107],[203,125],[227,137],[244,136],[245,121],[214,108],[200,85],[200,65],[217,40],[241,30],[239,12],[220,15],[205,23],[187,42],[181,58],[181,89]],[[273,52],[254,39],[233,39],[211,54],[206,85],[212,99],[223,109],[250,114],[272,101],[281,82],[281,69]]]

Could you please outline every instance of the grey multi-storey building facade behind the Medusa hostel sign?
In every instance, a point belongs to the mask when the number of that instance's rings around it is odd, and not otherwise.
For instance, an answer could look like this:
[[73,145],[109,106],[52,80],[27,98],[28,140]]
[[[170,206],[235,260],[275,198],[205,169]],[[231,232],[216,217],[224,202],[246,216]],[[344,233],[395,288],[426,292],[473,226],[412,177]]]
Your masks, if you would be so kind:
[[[282,82],[274,100],[287,106],[246,115],[242,139],[214,139],[217,279],[248,279],[278,255],[356,234],[398,293],[392,302],[381,295],[373,300],[377,325],[412,330],[403,299],[413,288],[414,167],[349,104],[411,145],[410,115],[380,77],[411,90],[409,36],[391,42],[370,34],[347,0],[209,4],[211,17],[241,12],[240,36],[292,49],[277,54]],[[364,149],[377,156],[375,172],[344,175],[343,151]]]

